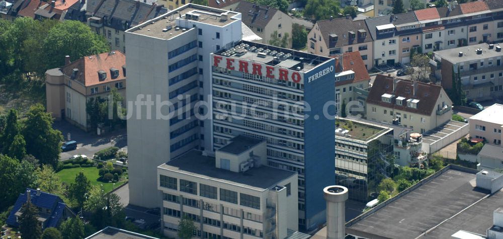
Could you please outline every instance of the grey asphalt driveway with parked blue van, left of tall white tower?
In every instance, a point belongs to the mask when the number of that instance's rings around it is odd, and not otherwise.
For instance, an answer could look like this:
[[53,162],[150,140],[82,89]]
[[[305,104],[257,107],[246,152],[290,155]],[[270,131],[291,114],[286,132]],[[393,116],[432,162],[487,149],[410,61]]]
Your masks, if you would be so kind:
[[84,132],[64,120],[54,122],[54,128],[61,131],[65,141],[68,140],[68,133],[70,134],[70,140],[77,141],[77,149],[62,152],[60,160],[66,160],[75,154],[85,154],[92,157],[101,149],[110,146],[127,149],[126,129],[117,129],[102,135],[96,135],[94,132]]

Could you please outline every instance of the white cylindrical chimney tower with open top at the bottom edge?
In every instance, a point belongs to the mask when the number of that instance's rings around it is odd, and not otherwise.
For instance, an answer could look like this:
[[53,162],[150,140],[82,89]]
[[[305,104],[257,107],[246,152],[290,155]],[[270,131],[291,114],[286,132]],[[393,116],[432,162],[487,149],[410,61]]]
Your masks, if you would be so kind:
[[348,188],[328,186],[323,189],[326,201],[326,238],[344,239],[346,236],[345,204],[348,200]]

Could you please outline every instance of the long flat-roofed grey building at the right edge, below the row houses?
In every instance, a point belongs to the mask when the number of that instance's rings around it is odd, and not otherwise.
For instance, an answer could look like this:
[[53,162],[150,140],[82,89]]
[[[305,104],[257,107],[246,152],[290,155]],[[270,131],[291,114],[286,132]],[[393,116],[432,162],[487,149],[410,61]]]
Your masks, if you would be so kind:
[[501,46],[481,43],[435,51],[434,60],[435,76],[445,89],[452,89],[454,72],[460,74],[468,100],[484,101],[503,96]]

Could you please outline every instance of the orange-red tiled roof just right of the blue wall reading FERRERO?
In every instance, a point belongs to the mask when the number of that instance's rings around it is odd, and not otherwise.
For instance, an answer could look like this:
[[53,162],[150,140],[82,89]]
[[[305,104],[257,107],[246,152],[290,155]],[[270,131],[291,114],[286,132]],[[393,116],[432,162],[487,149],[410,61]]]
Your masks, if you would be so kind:
[[[363,62],[362,56],[360,55],[359,51],[353,51],[343,54],[343,69],[341,69],[340,56],[336,56],[334,58],[336,58],[336,72],[345,70],[353,70],[355,72],[355,78],[353,79],[353,81],[336,82],[336,87],[355,82],[370,81],[369,72],[365,67],[365,63]],[[365,86],[365,88],[366,87],[368,86]]]

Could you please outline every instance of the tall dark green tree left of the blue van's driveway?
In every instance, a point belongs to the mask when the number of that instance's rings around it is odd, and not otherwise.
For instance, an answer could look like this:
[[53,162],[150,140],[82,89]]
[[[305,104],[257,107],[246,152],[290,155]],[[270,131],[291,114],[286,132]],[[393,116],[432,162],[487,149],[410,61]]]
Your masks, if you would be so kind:
[[61,131],[52,128],[52,116],[45,112],[45,107],[36,104],[26,113],[23,135],[26,141],[26,152],[37,158],[41,164],[49,164],[53,168],[61,153]]

